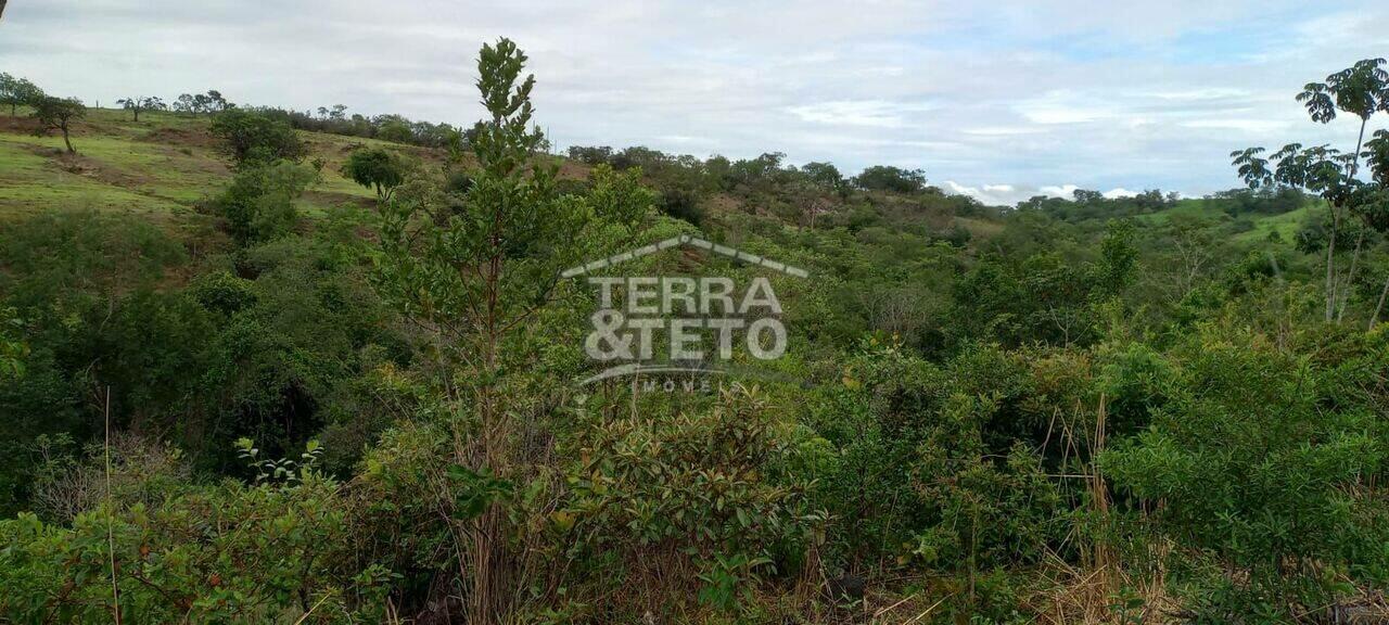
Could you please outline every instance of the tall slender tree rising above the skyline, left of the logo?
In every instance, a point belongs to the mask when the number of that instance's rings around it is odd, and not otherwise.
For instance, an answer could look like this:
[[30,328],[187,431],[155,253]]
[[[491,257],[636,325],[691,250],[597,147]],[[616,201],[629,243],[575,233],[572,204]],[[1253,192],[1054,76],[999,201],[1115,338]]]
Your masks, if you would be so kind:
[[[560,269],[578,256],[578,232],[592,219],[554,188],[556,165],[533,158],[542,142],[529,128],[535,76],[508,39],[485,44],[478,90],[490,118],[472,147],[478,169],[454,204],[438,189],[397,192],[382,204],[378,286],[421,328],[442,358],[442,392],[460,418],[449,422],[454,475],[482,494],[449,511],[467,571],[469,622],[503,622],[510,610],[504,493],[529,462],[513,446],[503,342],[551,297]],[[526,368],[521,365],[519,368]],[[458,506],[456,500],[442,506]]]

